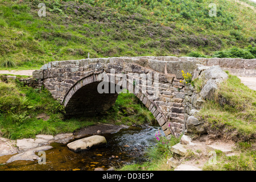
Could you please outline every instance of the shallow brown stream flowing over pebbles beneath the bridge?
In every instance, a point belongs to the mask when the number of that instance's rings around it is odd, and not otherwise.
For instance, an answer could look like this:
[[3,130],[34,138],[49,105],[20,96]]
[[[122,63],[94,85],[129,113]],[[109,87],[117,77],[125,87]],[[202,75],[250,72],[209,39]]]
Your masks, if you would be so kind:
[[52,143],[53,148],[45,151],[46,164],[39,164],[37,161],[14,161],[0,165],[0,170],[92,171],[95,168],[108,169],[123,164],[144,162],[144,151],[154,145],[155,134],[159,130],[160,126],[129,127],[117,133],[102,134],[108,141],[108,146],[81,152],[69,150],[67,144]]

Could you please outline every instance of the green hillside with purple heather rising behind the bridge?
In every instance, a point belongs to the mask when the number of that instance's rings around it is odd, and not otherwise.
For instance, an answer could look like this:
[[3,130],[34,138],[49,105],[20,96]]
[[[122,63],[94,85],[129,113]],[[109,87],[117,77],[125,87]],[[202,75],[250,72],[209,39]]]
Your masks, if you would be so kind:
[[[38,16],[41,2],[45,17]],[[210,3],[216,3],[216,16],[209,16]],[[216,51],[234,46],[251,59],[255,6],[246,0],[0,0],[0,68],[38,68],[88,52],[90,58],[232,57]]]

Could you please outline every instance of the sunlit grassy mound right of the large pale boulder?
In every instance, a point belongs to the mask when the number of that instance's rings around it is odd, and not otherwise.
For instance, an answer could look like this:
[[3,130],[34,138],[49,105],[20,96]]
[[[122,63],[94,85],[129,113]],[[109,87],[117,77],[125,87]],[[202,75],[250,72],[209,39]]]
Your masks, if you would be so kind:
[[204,119],[211,129],[225,127],[232,131],[230,135],[241,135],[240,139],[254,138],[256,92],[243,85],[237,76],[229,75],[228,80],[220,85],[215,100],[205,101],[199,117]]

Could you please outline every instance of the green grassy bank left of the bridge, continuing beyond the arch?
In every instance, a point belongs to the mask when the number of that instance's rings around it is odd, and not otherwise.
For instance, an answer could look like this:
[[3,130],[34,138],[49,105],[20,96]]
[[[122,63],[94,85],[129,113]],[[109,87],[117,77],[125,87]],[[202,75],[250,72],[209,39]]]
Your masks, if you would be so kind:
[[141,125],[154,116],[133,94],[120,94],[105,115],[92,118],[64,118],[64,107],[48,90],[0,82],[0,135],[10,139],[32,138],[37,134],[73,132],[97,122]]

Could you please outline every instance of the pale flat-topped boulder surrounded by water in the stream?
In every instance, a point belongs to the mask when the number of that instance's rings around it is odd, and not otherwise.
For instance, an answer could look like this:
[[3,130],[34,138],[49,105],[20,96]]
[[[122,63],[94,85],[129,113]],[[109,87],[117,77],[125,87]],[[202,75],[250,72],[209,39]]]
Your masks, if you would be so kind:
[[91,137],[82,138],[74,142],[68,143],[68,148],[72,151],[89,150],[92,147],[106,146],[106,138],[100,135],[93,135]]

